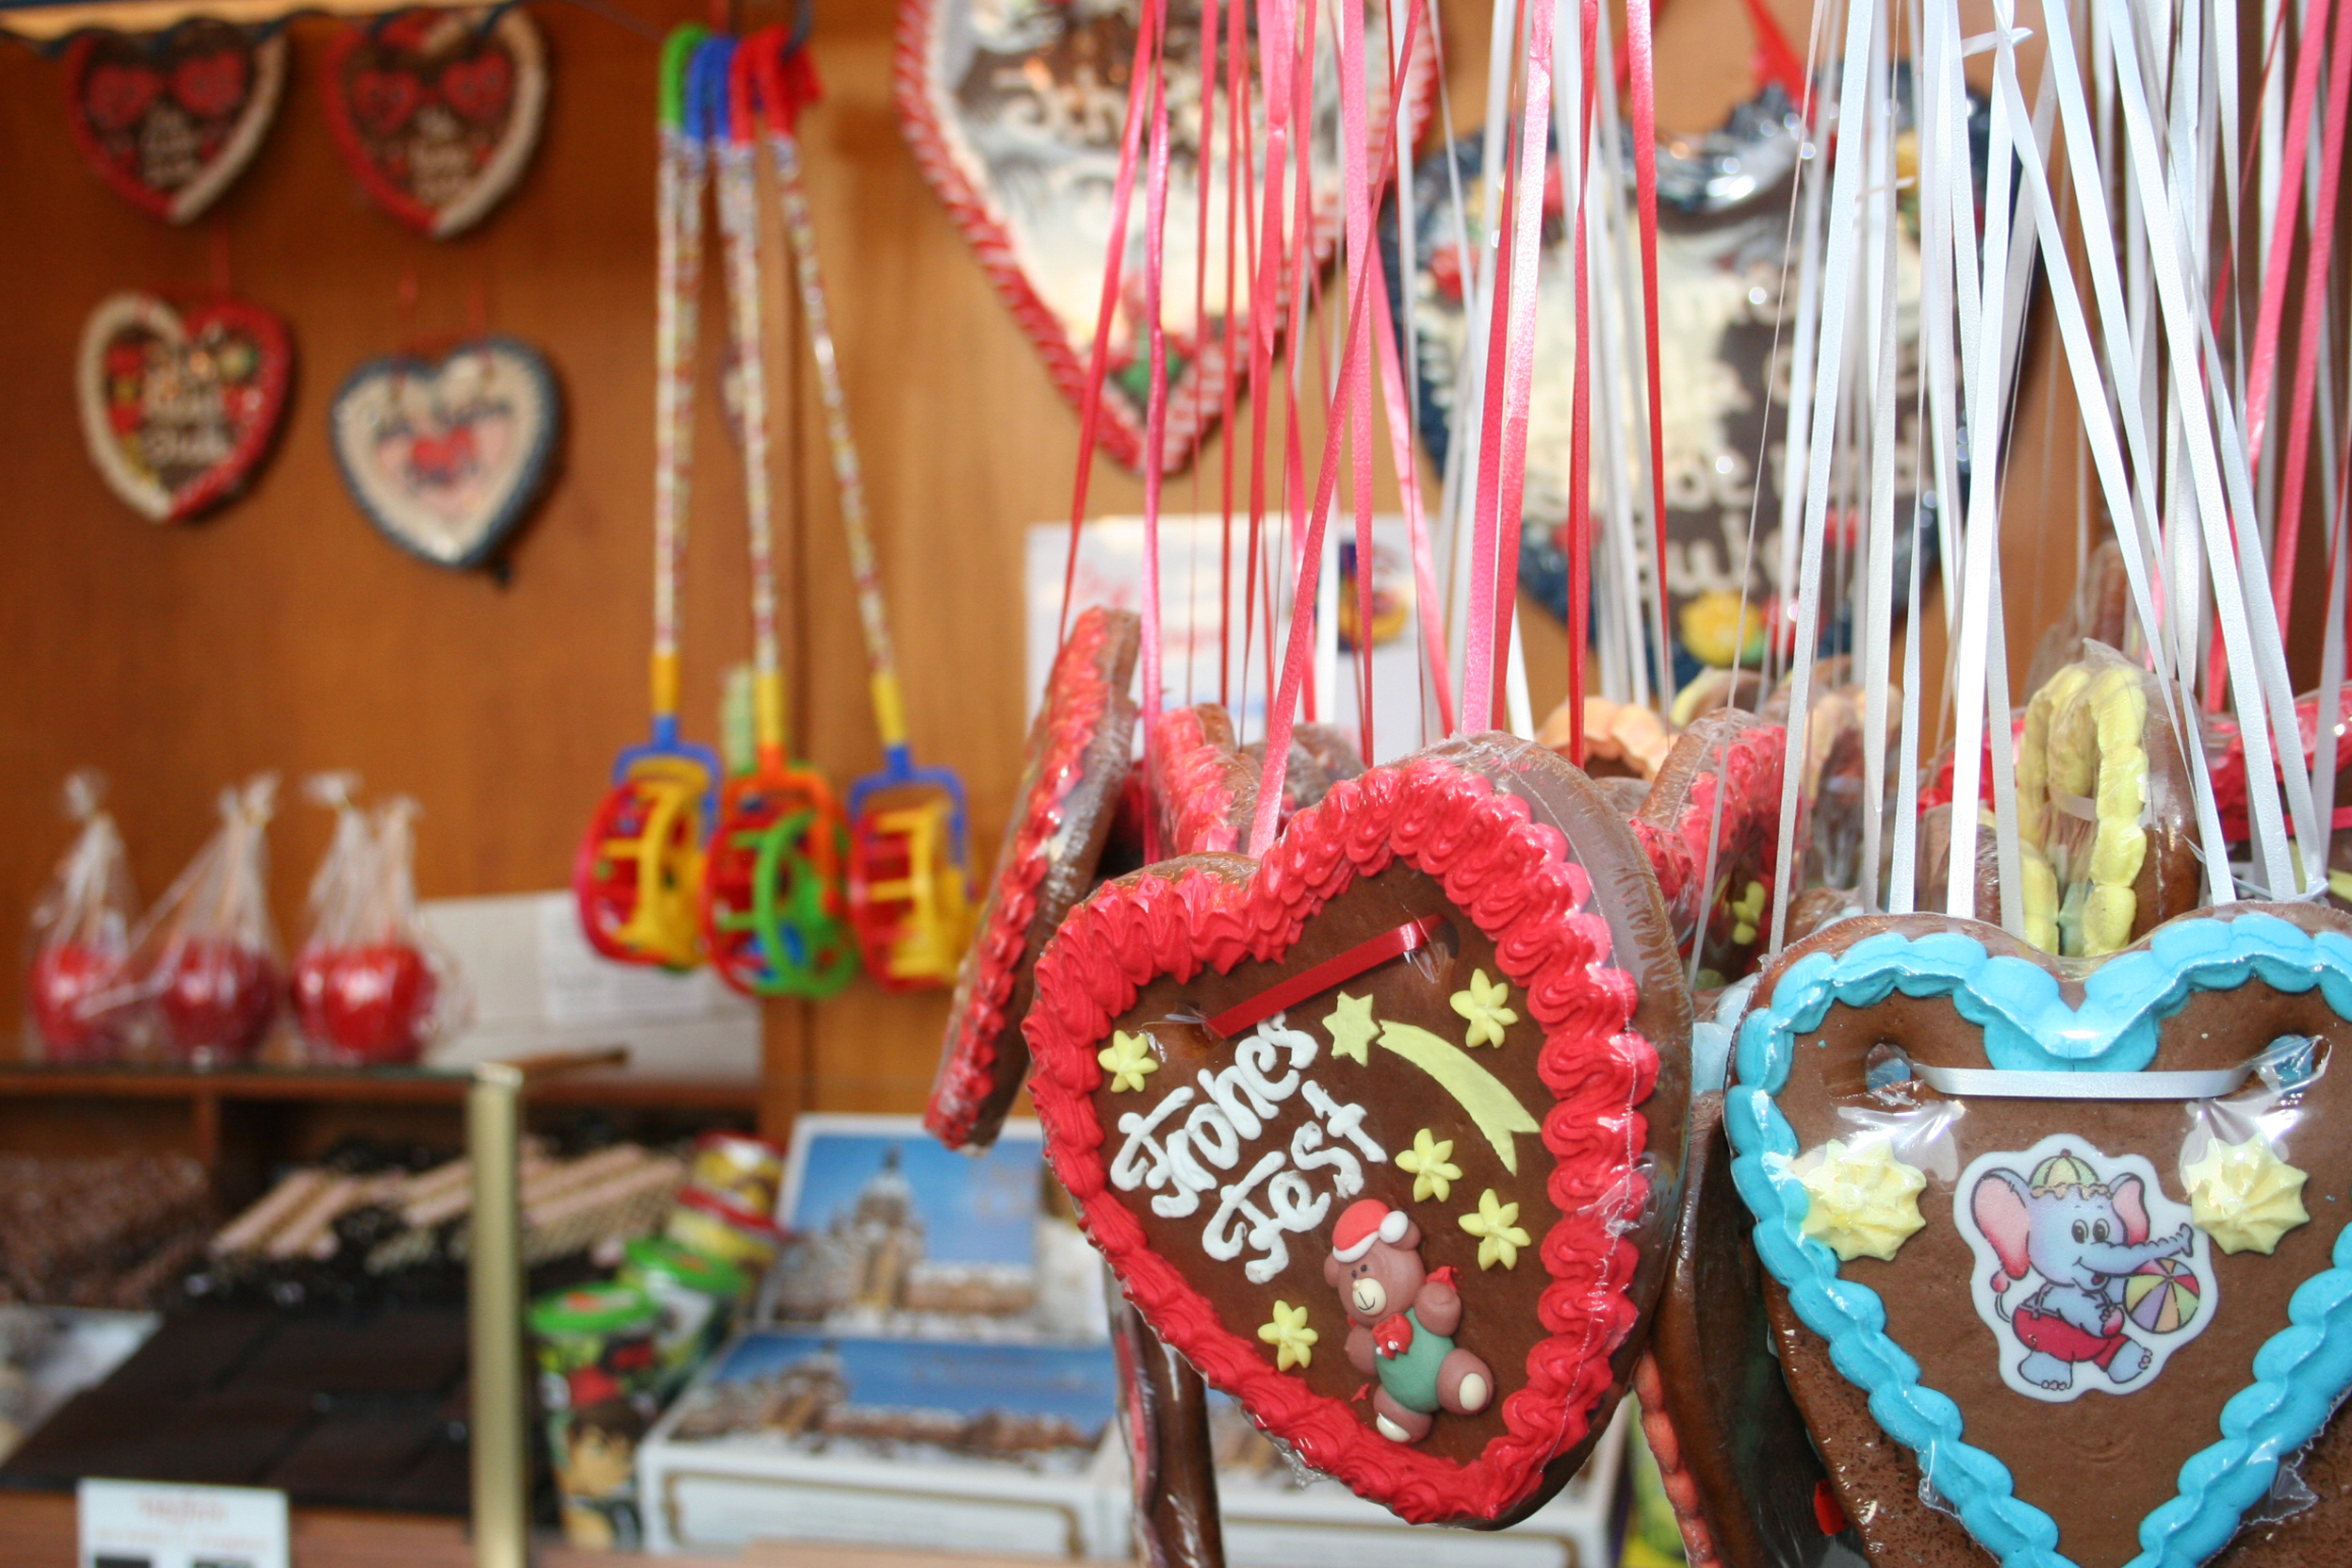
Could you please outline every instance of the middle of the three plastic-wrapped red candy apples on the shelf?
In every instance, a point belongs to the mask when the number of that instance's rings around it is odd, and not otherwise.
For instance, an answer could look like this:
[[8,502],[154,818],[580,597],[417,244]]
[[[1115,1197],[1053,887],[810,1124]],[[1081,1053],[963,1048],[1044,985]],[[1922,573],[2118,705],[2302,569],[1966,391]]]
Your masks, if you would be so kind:
[[252,1060],[285,999],[285,964],[268,900],[268,823],[278,776],[221,790],[221,827],[148,910],[136,997],[162,1051],[198,1067]]

